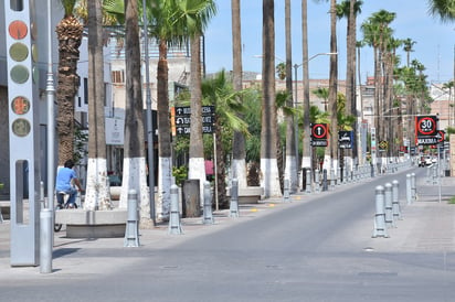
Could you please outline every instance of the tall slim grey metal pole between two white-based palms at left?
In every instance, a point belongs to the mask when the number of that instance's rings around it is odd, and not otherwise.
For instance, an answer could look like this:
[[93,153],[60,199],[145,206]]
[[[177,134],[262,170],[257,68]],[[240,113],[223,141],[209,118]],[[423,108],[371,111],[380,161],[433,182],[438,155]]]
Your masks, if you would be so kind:
[[148,151],[148,182],[149,182],[149,198],[150,198],[150,218],[156,226],[155,215],[155,163],[154,163],[154,129],[151,115],[151,96],[150,96],[150,72],[149,72],[149,55],[148,55],[148,20],[146,0],[142,0],[144,12],[144,57],[146,63],[146,112],[147,112],[147,151]]

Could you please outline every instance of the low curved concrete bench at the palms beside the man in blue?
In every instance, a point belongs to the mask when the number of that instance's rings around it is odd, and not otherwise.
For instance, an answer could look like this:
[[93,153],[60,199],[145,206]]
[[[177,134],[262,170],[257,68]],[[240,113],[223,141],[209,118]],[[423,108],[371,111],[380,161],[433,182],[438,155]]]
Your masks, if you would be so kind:
[[55,223],[66,225],[68,238],[116,238],[125,237],[126,209],[55,211]]

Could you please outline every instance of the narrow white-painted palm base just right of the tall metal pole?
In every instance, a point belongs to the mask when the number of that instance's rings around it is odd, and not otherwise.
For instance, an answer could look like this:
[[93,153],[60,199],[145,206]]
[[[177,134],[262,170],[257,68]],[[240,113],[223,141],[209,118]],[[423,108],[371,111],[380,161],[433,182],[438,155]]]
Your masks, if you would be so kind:
[[170,187],[172,185],[172,160],[171,158],[158,159],[158,201],[156,216],[160,219],[169,218]]

